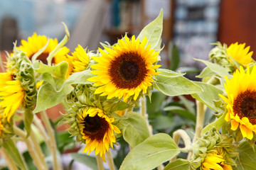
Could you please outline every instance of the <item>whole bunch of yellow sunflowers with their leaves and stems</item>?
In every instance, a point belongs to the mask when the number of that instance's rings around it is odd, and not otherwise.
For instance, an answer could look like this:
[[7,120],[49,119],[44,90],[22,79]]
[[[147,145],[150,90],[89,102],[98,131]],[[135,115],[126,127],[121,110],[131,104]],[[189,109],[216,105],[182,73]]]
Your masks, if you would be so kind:
[[[206,64],[202,81],[191,81],[157,64],[162,26],[161,11],[137,38],[125,35],[96,52],[78,45],[71,55],[66,26],[59,43],[36,33],[14,43],[0,73],[0,150],[8,168],[63,169],[60,155],[75,141],[85,147],[73,159],[91,169],[255,169],[250,47],[215,43],[209,60],[198,60]],[[46,110],[60,103],[65,112],[54,123]],[[55,131],[63,123],[67,140]]]

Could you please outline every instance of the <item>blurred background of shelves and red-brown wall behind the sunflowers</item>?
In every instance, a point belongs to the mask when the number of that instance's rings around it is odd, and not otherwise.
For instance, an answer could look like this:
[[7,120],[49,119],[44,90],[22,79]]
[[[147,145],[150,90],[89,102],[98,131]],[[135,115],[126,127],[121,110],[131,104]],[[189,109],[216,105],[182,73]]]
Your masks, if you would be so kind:
[[[128,36],[139,35],[140,30],[159,15],[161,8],[164,11],[164,50],[161,52],[160,64],[165,68],[188,67],[199,72],[205,66],[193,58],[208,60],[208,52],[213,47],[210,43],[216,41],[227,45],[245,42],[250,45],[251,51],[256,52],[254,0],[0,0],[1,57],[5,61],[4,51],[11,52],[15,40],[20,45],[21,40],[27,40],[33,33],[58,38],[60,41],[65,35],[61,22],[70,30],[70,40],[66,45],[70,52],[78,44],[89,50],[97,50],[102,47],[100,42],[114,44],[125,33]],[[175,60],[174,45],[178,47],[176,50],[180,57],[175,67],[172,65]],[[147,103],[149,120],[154,129],[171,134],[181,125],[193,127],[195,114],[189,121],[173,116],[184,113],[182,109],[175,108],[162,115],[161,108],[164,106],[161,103],[164,103],[166,96],[156,92],[152,98],[159,101],[157,107],[154,102]],[[183,100],[178,98],[178,101]],[[174,104],[183,106],[177,102]],[[50,118],[57,120],[60,117],[59,111],[64,113],[58,105],[47,112]],[[64,129],[58,127],[58,130]],[[58,135],[69,137],[68,132]],[[63,146],[67,145],[65,140],[62,141]],[[66,147],[63,152],[65,150]],[[118,154],[119,162],[123,157],[125,154],[122,157]],[[117,158],[115,163],[118,162]],[[68,163],[72,160],[65,154],[63,159],[67,159],[63,162]],[[82,164],[75,164],[73,169],[78,169],[78,166]]]

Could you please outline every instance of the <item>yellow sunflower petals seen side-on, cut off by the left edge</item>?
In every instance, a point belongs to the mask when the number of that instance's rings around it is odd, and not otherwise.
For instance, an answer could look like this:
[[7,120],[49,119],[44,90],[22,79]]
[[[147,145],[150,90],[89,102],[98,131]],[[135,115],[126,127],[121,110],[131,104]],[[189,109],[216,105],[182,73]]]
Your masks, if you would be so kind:
[[8,121],[21,106],[25,96],[21,81],[15,78],[16,75],[11,71],[0,73],[0,106],[4,109],[4,118]]

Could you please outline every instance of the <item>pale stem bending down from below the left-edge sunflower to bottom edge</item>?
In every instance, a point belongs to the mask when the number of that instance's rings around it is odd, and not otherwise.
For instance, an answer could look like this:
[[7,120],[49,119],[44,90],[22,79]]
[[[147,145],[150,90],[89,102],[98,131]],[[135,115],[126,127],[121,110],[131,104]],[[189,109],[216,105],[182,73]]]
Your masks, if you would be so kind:
[[26,133],[23,132],[23,130],[21,130],[20,128],[16,127],[14,125],[14,133],[18,136],[20,136],[21,138],[23,138],[24,142],[26,142],[26,145],[28,147],[28,152],[31,155],[31,158],[33,159],[33,163],[36,165],[38,170],[46,170],[48,169],[46,166],[43,166],[42,162],[44,162],[44,160],[41,160],[40,157],[38,156],[38,153],[36,153],[35,149],[34,149],[34,145],[33,142],[31,140],[31,137],[26,138]]

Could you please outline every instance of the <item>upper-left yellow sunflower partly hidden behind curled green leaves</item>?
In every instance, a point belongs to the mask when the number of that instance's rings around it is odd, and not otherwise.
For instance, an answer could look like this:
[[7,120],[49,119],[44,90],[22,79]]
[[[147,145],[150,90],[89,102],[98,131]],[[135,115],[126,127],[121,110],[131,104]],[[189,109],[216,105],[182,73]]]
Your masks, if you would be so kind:
[[[33,33],[31,37],[28,37],[28,41],[21,40],[21,46],[17,48],[25,52],[26,56],[28,56],[28,58],[31,59],[31,57],[34,54],[36,54],[36,52],[41,50],[41,48],[46,45],[47,41],[48,38],[46,38],[46,35],[37,35],[36,33]],[[44,64],[47,64],[46,58],[48,57],[50,52],[52,52],[55,49],[57,45],[57,38],[50,38],[46,50],[44,50],[42,54],[37,57],[37,59],[41,60]],[[62,49],[59,50],[58,53],[53,57],[53,63],[58,64],[60,62],[67,61],[66,55],[68,54],[68,52],[68,47],[62,47]]]

